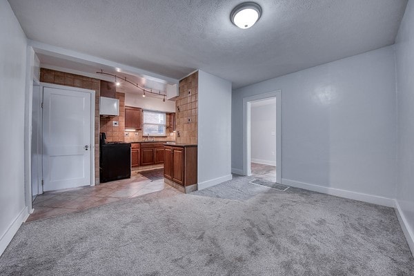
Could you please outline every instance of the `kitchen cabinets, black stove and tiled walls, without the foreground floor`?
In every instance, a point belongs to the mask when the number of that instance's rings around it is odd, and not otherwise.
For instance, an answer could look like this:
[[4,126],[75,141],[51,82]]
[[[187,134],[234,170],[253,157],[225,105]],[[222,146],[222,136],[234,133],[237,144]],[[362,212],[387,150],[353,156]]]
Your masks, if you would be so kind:
[[[173,105],[159,100],[150,110],[142,104],[148,97],[134,96],[101,81],[100,182],[163,169],[166,184],[197,190],[197,72],[179,82]],[[124,148],[130,154],[121,156]]]

